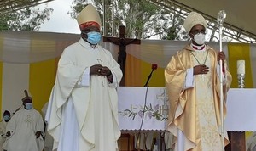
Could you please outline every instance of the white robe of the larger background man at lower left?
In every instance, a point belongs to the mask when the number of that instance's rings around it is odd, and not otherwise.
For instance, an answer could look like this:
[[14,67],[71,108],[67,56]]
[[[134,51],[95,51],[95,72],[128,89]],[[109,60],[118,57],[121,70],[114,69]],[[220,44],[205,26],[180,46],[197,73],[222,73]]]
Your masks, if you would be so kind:
[[8,151],[42,151],[44,148],[43,137],[36,137],[37,131],[44,132],[44,121],[36,109],[20,108],[9,120],[6,131],[11,136],[6,140]]

